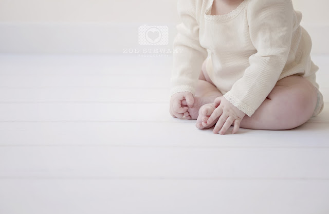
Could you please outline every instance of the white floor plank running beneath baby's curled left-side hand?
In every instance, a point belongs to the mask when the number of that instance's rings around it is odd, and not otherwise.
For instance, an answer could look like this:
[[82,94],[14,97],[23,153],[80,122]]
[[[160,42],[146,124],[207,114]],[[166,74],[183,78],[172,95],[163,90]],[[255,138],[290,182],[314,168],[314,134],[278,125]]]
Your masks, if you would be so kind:
[[[328,103],[325,103],[325,105]],[[0,103],[0,121],[184,122],[167,103]],[[185,120],[188,122],[195,122]],[[308,122],[329,123],[329,108]]]

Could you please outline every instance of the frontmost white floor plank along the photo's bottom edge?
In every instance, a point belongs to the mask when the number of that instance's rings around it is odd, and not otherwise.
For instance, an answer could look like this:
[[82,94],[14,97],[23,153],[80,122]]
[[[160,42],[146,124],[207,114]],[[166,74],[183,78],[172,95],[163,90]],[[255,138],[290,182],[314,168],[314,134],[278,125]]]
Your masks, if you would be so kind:
[[329,181],[0,180],[6,214],[326,214]]

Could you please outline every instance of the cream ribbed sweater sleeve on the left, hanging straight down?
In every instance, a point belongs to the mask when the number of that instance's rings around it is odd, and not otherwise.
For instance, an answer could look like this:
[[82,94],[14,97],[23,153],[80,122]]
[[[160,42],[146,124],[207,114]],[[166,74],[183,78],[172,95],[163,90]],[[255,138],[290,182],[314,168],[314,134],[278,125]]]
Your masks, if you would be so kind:
[[171,96],[177,92],[195,94],[202,63],[207,58],[207,49],[199,42],[199,0],[178,0],[177,11],[181,23],[173,41],[173,69],[170,79]]

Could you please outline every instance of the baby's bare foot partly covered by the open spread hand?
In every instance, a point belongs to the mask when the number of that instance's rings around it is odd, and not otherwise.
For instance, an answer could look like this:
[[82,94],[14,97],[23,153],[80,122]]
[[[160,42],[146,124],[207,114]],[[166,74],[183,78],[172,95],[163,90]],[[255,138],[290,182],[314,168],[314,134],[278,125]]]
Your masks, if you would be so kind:
[[207,103],[207,104],[204,104],[203,106],[201,106],[200,110],[199,110],[199,116],[196,120],[195,126],[200,130],[211,128],[218,121],[218,118],[219,118],[218,117],[210,124],[207,123],[208,118],[214,112],[215,109],[216,109],[216,107],[215,107],[214,103]]

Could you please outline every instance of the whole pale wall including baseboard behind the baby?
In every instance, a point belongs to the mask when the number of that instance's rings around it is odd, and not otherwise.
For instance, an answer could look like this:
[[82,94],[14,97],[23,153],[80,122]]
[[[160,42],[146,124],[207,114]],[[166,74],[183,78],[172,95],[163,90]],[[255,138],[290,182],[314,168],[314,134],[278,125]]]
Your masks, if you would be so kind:
[[[0,0],[0,52],[121,52],[124,44],[129,48],[136,47],[136,36],[126,34],[134,34],[141,24],[168,25],[172,42],[176,34],[175,25],[179,22],[176,2]],[[329,1],[293,2],[295,9],[303,13],[301,24],[314,41],[314,53],[329,54],[329,48],[321,42],[329,37]],[[77,40],[71,42],[78,36],[89,49],[79,49],[81,42]],[[108,38],[112,41],[106,41]],[[40,47],[27,46],[28,43],[34,44],[33,39],[45,41]],[[102,41],[104,45],[97,45],[96,41]],[[57,45],[51,46],[50,42]],[[92,50],[93,47],[95,50]]]

